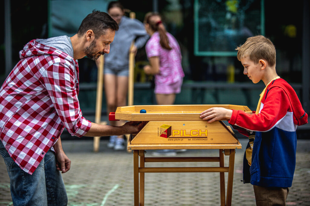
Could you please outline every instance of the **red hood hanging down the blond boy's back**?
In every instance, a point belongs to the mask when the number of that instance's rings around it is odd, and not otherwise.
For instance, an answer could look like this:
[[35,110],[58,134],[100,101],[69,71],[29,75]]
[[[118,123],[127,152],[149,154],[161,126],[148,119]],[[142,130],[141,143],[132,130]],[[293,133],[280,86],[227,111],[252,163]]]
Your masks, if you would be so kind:
[[290,104],[293,110],[294,124],[298,126],[307,124],[308,114],[303,110],[303,107],[298,99],[298,96],[295,90],[292,88],[292,86],[290,86],[290,84],[287,83],[284,79],[280,78],[280,79],[274,80],[272,82],[272,85],[269,86],[268,90],[276,86],[282,88],[290,100]]

